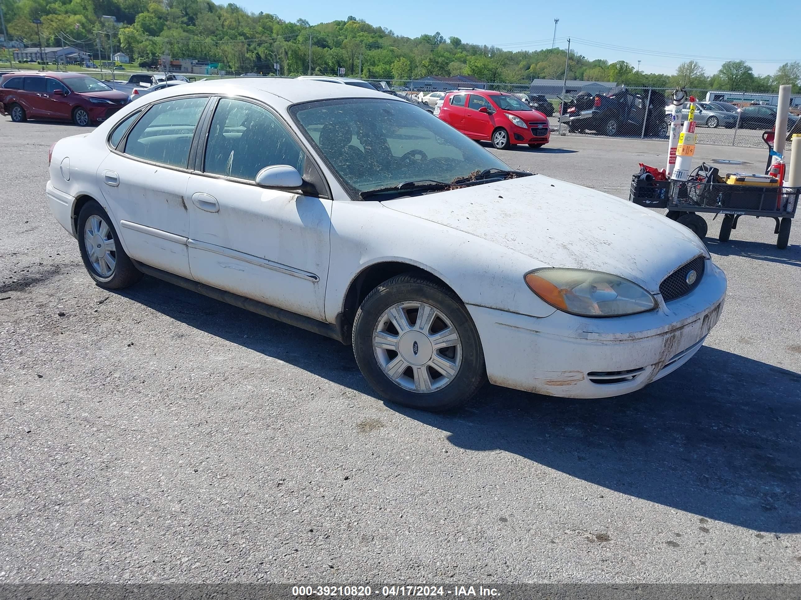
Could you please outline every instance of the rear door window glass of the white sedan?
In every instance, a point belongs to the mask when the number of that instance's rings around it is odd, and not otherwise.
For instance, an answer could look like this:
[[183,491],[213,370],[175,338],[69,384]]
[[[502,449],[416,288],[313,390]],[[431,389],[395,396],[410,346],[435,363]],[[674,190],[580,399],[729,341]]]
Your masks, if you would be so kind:
[[189,148],[207,101],[180,98],[152,106],[128,134],[125,154],[187,168]]

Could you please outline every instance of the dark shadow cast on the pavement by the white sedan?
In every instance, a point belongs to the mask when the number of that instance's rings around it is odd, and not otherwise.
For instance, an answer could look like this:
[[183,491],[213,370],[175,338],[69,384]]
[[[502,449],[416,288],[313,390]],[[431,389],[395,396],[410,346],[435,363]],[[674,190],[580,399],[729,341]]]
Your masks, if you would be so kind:
[[[375,398],[339,342],[153,278],[120,294]],[[386,406],[449,432],[465,450],[503,450],[701,518],[787,534],[801,532],[799,390],[801,374],[703,347],[673,374],[618,398],[570,400],[487,385],[453,414]]]

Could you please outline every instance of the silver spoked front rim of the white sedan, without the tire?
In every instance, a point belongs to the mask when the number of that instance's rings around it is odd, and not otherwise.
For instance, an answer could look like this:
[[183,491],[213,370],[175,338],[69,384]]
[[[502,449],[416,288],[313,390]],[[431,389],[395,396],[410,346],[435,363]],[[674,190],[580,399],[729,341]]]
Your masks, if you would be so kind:
[[461,366],[456,327],[425,302],[400,302],[384,311],[373,330],[372,347],[390,381],[421,394],[447,386]]

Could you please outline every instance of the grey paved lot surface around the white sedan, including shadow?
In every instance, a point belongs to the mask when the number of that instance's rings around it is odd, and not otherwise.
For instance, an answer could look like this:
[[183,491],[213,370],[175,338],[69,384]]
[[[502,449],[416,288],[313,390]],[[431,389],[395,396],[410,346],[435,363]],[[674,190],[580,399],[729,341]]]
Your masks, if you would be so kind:
[[[0,582],[801,582],[798,232],[707,239],[723,318],[646,390],[487,386],[437,416],[374,398],[326,338],[94,286],[44,197],[74,133],[0,120]],[[625,197],[665,145],[499,154]]]

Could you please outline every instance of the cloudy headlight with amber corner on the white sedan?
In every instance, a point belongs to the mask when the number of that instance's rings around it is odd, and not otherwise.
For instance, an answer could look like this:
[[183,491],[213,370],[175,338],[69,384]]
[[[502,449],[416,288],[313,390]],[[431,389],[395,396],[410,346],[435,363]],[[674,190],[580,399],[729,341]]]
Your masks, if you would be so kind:
[[525,283],[549,305],[582,317],[620,317],[653,310],[654,297],[636,283],[582,269],[536,269]]

